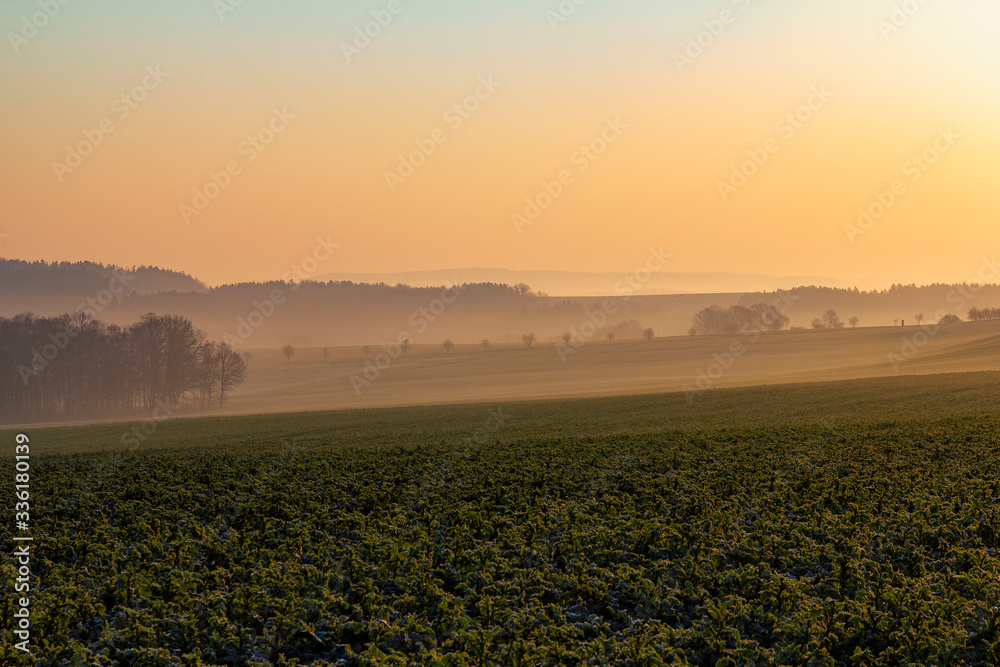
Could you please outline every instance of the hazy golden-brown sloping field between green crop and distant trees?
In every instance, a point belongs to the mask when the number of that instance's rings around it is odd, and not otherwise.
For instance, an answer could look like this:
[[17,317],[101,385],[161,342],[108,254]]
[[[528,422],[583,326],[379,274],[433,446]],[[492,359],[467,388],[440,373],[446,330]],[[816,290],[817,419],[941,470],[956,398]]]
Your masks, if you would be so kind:
[[[930,335],[928,335],[930,332]],[[572,351],[569,351],[572,350]],[[1000,370],[1000,322],[646,341],[579,348],[415,345],[251,350],[226,414],[685,392],[896,375]],[[393,354],[400,356],[393,358]],[[387,363],[388,362],[388,363]],[[932,378],[928,378],[932,381]]]

